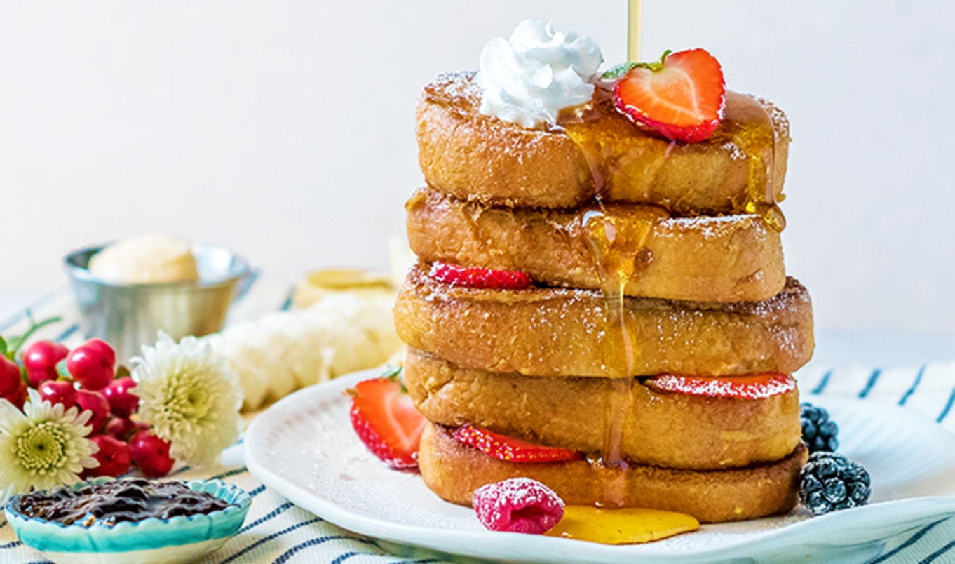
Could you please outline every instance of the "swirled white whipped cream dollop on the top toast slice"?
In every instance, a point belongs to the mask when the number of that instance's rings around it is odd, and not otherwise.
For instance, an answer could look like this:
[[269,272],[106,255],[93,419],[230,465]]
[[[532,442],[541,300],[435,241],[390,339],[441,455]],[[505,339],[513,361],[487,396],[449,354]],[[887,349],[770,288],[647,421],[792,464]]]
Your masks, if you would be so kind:
[[510,39],[491,39],[480,54],[480,113],[527,128],[557,122],[563,108],[593,96],[604,62],[597,42],[577,28],[555,32],[551,22],[524,20]]

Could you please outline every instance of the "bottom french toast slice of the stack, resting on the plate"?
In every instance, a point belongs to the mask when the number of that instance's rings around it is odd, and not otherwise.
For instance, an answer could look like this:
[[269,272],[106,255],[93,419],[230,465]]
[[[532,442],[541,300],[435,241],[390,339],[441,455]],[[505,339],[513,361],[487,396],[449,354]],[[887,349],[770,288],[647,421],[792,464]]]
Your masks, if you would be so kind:
[[806,459],[806,447],[799,443],[773,463],[726,470],[637,464],[620,470],[586,461],[512,463],[461,445],[445,427],[428,423],[421,436],[418,469],[428,488],[459,505],[470,506],[474,490],[485,484],[527,477],[553,489],[567,505],[597,505],[622,489],[622,507],[680,511],[701,522],[719,523],[792,510]]

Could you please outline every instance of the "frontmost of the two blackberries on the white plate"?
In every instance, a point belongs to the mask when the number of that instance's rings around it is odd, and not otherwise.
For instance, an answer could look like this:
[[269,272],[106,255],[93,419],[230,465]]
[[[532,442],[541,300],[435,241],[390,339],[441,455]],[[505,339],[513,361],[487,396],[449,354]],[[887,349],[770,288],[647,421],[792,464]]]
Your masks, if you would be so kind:
[[802,466],[799,503],[814,515],[865,505],[872,489],[869,472],[835,452],[814,452]]

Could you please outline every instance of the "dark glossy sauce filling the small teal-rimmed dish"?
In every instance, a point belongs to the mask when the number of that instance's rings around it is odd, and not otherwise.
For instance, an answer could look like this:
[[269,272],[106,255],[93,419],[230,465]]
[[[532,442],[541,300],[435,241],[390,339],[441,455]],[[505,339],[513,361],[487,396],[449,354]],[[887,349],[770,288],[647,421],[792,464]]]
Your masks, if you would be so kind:
[[113,526],[150,517],[168,519],[224,510],[230,504],[181,482],[151,482],[131,478],[88,484],[80,488],[55,488],[20,498],[16,509],[28,517],[63,525]]

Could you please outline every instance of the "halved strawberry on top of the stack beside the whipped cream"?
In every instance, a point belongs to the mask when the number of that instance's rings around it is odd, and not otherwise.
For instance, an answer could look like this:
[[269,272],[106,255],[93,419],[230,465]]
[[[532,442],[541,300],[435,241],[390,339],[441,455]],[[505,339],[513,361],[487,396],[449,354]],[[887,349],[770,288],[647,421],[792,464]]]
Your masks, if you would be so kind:
[[613,87],[613,102],[627,118],[669,140],[704,141],[723,119],[723,69],[703,49],[637,63]]

